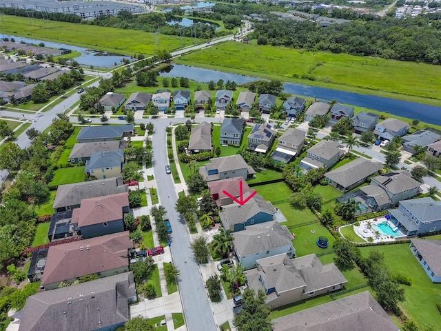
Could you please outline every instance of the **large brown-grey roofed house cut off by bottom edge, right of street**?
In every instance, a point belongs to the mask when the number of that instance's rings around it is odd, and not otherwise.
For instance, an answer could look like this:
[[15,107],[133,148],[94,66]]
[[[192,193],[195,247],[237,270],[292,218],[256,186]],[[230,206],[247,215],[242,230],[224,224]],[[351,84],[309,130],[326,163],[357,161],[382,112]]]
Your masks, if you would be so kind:
[[294,312],[272,322],[273,331],[400,331],[369,291]]

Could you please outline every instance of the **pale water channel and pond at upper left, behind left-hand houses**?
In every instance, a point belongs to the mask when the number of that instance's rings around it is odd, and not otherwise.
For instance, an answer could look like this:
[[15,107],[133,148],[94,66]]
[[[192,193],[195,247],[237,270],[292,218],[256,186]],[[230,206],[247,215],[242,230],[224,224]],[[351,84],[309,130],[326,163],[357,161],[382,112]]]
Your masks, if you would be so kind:
[[81,52],[81,56],[74,57],[75,61],[77,61],[81,66],[94,66],[95,68],[113,68],[115,66],[115,62],[117,64],[121,64],[122,59],[130,59],[130,57],[125,57],[123,55],[115,55],[108,53],[100,53],[96,50],[90,50],[87,48],[77,47],[65,45],[64,43],[53,43],[52,41],[43,41],[37,39],[30,39],[24,37],[12,36],[9,34],[0,34],[1,38],[14,38],[16,42],[24,41],[25,43],[44,43],[44,46],[50,48],[67,48],[68,50],[76,50],[77,52]]

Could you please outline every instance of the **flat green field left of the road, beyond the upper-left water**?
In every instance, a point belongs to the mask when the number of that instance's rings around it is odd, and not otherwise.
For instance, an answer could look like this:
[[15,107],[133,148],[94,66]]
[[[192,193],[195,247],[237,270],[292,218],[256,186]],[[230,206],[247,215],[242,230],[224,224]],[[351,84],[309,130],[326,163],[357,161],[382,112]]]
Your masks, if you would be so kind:
[[[1,30],[5,34],[67,43],[119,54],[154,54],[154,34],[140,30],[123,30],[43,19],[30,20],[27,17],[7,15],[3,15]],[[193,41],[194,39],[189,37],[183,37],[181,41],[179,36],[161,34],[161,49],[172,51],[189,46]]]

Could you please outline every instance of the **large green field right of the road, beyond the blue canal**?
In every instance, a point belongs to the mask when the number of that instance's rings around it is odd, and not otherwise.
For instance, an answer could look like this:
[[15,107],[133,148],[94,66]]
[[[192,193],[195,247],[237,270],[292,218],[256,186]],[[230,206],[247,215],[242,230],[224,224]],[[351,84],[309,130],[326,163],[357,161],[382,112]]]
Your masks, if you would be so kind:
[[[176,63],[441,105],[441,67],[282,46],[222,43]],[[289,63],[289,67],[286,66]],[[314,81],[295,79],[309,74]]]

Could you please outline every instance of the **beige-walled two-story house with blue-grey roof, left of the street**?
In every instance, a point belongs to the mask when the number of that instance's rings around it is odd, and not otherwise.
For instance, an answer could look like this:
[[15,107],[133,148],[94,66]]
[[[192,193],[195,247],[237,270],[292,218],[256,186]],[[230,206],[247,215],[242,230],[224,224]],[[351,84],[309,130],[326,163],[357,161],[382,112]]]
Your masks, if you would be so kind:
[[85,163],[84,172],[96,179],[119,177],[123,173],[124,164],[123,150],[96,152],[90,155],[90,160]]

